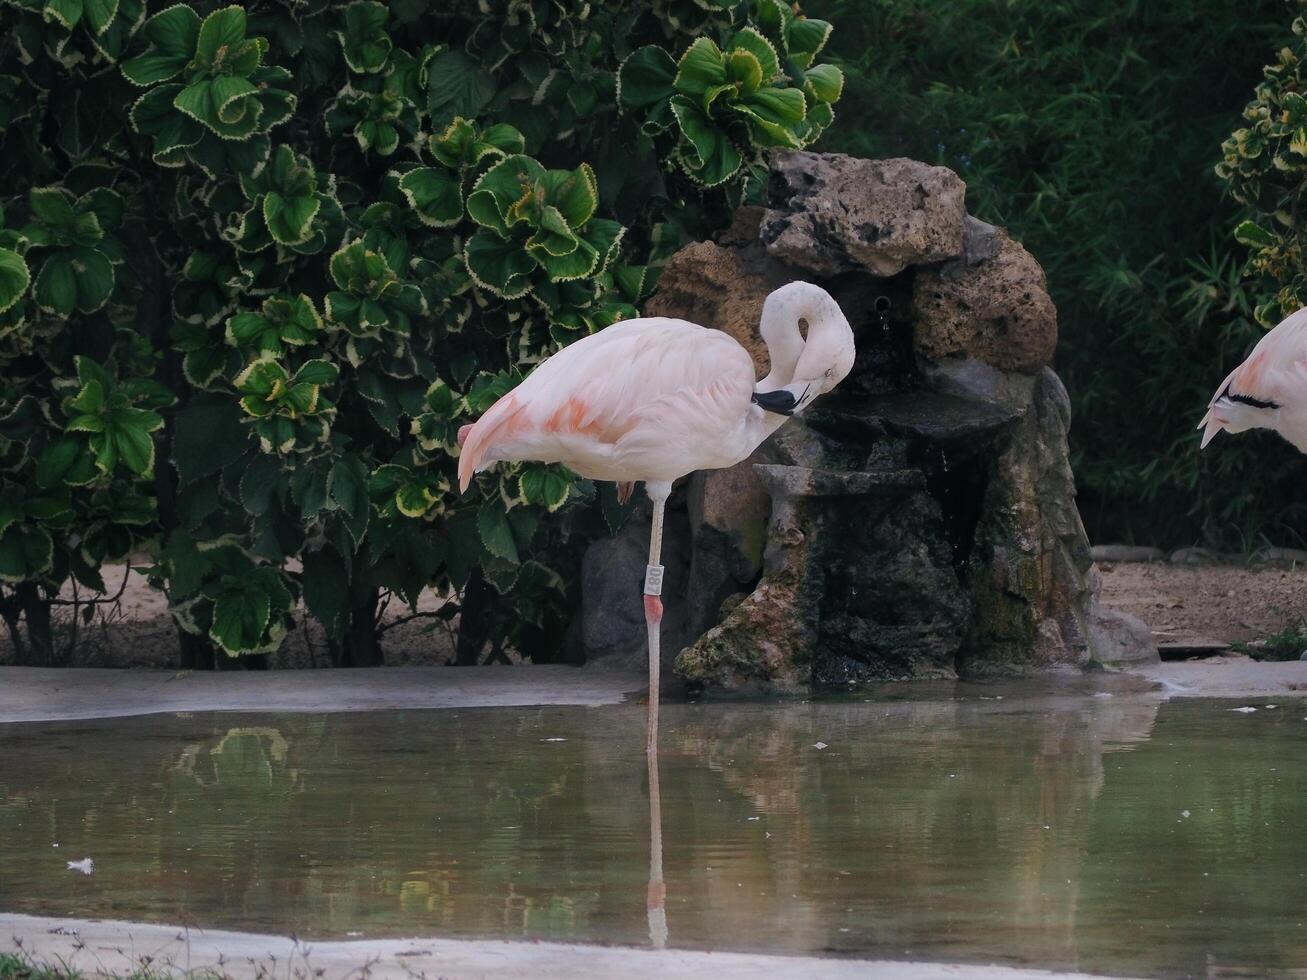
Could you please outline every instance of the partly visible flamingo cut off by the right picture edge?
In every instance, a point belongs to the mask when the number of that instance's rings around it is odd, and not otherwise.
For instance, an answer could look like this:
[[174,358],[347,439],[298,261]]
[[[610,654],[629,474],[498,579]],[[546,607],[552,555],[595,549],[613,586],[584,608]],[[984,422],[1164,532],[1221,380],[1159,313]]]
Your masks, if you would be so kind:
[[1199,422],[1201,448],[1217,433],[1273,429],[1307,452],[1307,310],[1286,316],[1221,382]]

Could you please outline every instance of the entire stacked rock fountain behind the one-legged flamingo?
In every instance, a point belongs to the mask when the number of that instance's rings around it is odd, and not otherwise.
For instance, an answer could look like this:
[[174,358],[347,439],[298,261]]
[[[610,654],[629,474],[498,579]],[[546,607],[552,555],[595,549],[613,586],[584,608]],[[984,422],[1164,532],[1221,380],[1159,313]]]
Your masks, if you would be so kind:
[[[1157,656],[1098,608],[1043,270],[965,192],[910,159],[783,153],[766,208],[668,263],[646,314],[725,331],[759,376],[762,301],[796,278],[835,297],[859,351],[753,459],[687,481],[665,591],[684,613],[664,630],[686,681],[799,691]],[[646,534],[587,554],[589,660],[643,656]]]

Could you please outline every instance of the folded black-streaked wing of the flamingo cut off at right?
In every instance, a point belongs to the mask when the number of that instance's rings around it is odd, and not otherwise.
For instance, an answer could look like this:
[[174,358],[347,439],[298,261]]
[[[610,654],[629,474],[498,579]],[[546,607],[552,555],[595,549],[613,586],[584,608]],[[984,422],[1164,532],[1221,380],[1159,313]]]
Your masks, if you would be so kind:
[[1242,365],[1217,388],[1199,422],[1205,448],[1227,426],[1256,425],[1257,413],[1302,399],[1307,389],[1307,310],[1299,310],[1266,333]]

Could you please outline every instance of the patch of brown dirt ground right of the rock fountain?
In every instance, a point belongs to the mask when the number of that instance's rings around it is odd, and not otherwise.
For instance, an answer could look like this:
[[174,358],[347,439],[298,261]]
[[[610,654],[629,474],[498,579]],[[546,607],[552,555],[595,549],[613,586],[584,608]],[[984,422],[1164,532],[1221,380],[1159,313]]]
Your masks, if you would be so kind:
[[1307,622],[1307,568],[1100,563],[1100,601],[1153,627],[1225,643],[1264,639]]

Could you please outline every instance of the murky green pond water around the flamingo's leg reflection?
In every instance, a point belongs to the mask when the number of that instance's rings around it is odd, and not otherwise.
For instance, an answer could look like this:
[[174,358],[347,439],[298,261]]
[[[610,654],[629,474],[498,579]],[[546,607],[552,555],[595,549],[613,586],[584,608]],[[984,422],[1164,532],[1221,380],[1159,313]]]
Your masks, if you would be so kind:
[[[664,706],[667,942],[1304,970],[1307,706],[1251,703]],[[638,706],[0,725],[0,911],[646,945],[650,810]]]

